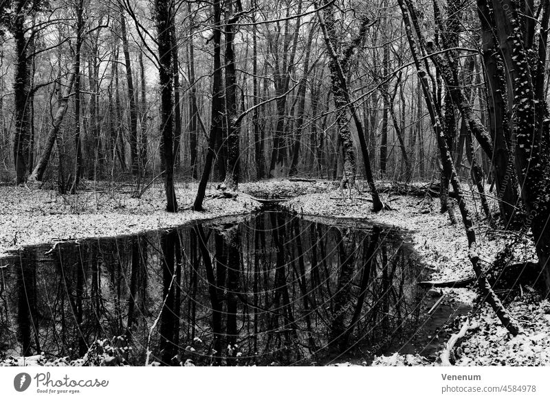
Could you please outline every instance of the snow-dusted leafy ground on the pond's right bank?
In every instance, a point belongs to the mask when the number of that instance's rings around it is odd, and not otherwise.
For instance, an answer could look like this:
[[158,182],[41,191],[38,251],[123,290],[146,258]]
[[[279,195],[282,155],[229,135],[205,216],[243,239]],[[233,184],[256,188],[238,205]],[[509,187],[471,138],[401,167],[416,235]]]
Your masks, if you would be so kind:
[[[406,229],[412,245],[424,266],[433,269],[430,280],[449,282],[474,277],[467,257],[467,239],[458,207],[454,207],[457,224],[450,224],[447,213],[440,213],[439,199],[429,196],[394,196],[382,194],[382,201],[392,211],[373,213],[370,196],[357,190],[344,191],[332,187],[328,191],[317,190],[301,194],[285,203],[285,207],[302,215],[322,217],[360,218],[374,223]],[[417,184],[421,186],[423,184]],[[363,185],[364,187],[364,185]],[[379,185],[384,187],[384,185]],[[510,233],[494,228],[481,211],[478,195],[464,185],[467,202],[474,211],[479,255],[489,269],[496,255],[511,249],[509,263],[536,261],[531,239],[512,237]],[[488,189],[488,187],[487,187]],[[301,191],[304,191],[302,185]],[[366,192],[368,193],[368,191]],[[456,204],[456,202],[455,202]],[[498,211],[494,198],[489,198],[493,212]],[[475,283],[467,287],[441,287],[437,292],[443,299],[439,307],[456,307],[459,303],[473,306],[476,299]],[[500,324],[491,307],[484,303],[476,308],[470,320],[471,329],[455,346],[452,359],[456,365],[514,365],[534,366],[550,364],[550,302],[529,285],[515,285],[511,290],[498,290],[498,295],[512,318],[522,327],[515,338]],[[458,333],[465,315],[457,316],[443,327],[437,327],[424,342],[430,345],[435,338],[446,342],[452,333]],[[424,332],[430,333],[430,332]],[[443,346],[440,346],[441,351]],[[403,347],[402,349],[406,349]],[[438,352],[439,353],[439,352]],[[456,358],[455,358],[456,357]],[[356,360],[341,362],[340,366],[358,364]],[[440,365],[439,358],[427,360],[417,354],[393,353],[375,358],[373,365]]]

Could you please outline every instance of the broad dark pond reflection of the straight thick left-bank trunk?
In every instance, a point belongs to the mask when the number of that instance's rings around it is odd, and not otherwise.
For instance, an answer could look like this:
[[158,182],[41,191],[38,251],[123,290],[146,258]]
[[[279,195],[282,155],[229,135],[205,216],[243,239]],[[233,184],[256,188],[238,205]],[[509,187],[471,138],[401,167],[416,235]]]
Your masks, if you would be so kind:
[[163,364],[173,364],[172,359],[175,356],[174,331],[176,312],[175,307],[175,269],[174,256],[177,241],[177,231],[170,229],[160,237],[160,246],[162,249],[162,298],[164,303],[160,315],[160,355]]

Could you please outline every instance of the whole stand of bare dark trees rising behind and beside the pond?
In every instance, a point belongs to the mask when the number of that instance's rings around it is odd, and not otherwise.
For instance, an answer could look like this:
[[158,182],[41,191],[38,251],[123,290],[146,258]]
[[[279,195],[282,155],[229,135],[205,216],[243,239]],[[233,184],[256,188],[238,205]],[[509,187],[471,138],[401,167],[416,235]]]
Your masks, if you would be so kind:
[[532,232],[550,287],[549,16],[549,0],[2,0],[1,178],[162,176],[167,211],[175,179],[199,180],[197,211],[209,180],[364,178],[374,211],[379,179],[438,180],[517,333],[461,181]]

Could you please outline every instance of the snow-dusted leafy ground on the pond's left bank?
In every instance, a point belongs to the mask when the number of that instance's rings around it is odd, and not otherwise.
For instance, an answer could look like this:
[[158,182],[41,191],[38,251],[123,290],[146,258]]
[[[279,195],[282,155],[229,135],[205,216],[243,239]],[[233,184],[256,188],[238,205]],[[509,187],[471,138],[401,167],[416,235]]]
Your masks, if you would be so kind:
[[179,212],[168,213],[164,188],[157,184],[141,196],[132,185],[84,182],[76,195],[28,187],[0,187],[0,255],[30,246],[91,237],[130,235],[179,226],[191,221],[243,215],[261,204],[246,193],[235,198],[219,196],[214,185],[206,191],[203,207],[195,212],[197,185],[175,185]]

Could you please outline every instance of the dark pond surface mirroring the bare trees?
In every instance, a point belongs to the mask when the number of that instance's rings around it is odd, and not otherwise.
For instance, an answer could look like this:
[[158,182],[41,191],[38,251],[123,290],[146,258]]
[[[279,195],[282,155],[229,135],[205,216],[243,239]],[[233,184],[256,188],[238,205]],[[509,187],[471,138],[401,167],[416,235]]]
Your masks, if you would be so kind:
[[17,332],[26,355],[77,357],[126,336],[130,364],[147,346],[161,364],[303,364],[383,350],[418,318],[417,267],[379,228],[265,213],[47,250],[2,271],[3,340]]

